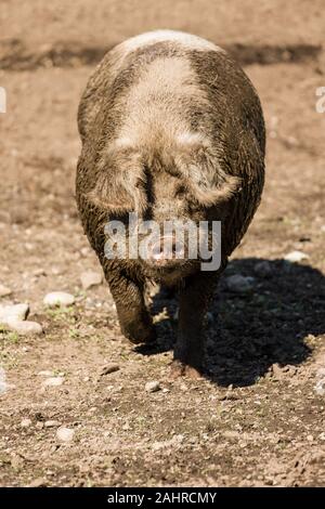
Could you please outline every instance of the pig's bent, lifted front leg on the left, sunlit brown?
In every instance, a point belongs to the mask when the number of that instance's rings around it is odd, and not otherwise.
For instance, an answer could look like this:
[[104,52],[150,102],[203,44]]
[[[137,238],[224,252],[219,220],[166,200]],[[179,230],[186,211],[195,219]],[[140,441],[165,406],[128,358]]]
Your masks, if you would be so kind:
[[143,288],[116,266],[104,272],[116,304],[122,335],[132,343],[154,341],[155,330],[144,303]]

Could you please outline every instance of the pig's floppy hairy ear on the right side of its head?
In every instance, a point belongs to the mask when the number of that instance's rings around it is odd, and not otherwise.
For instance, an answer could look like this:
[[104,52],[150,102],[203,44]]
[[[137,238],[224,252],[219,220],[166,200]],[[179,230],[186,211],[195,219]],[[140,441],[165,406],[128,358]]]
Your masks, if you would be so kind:
[[182,159],[179,170],[188,192],[200,205],[208,207],[225,201],[240,188],[242,180],[226,173],[209,147],[195,147]]

